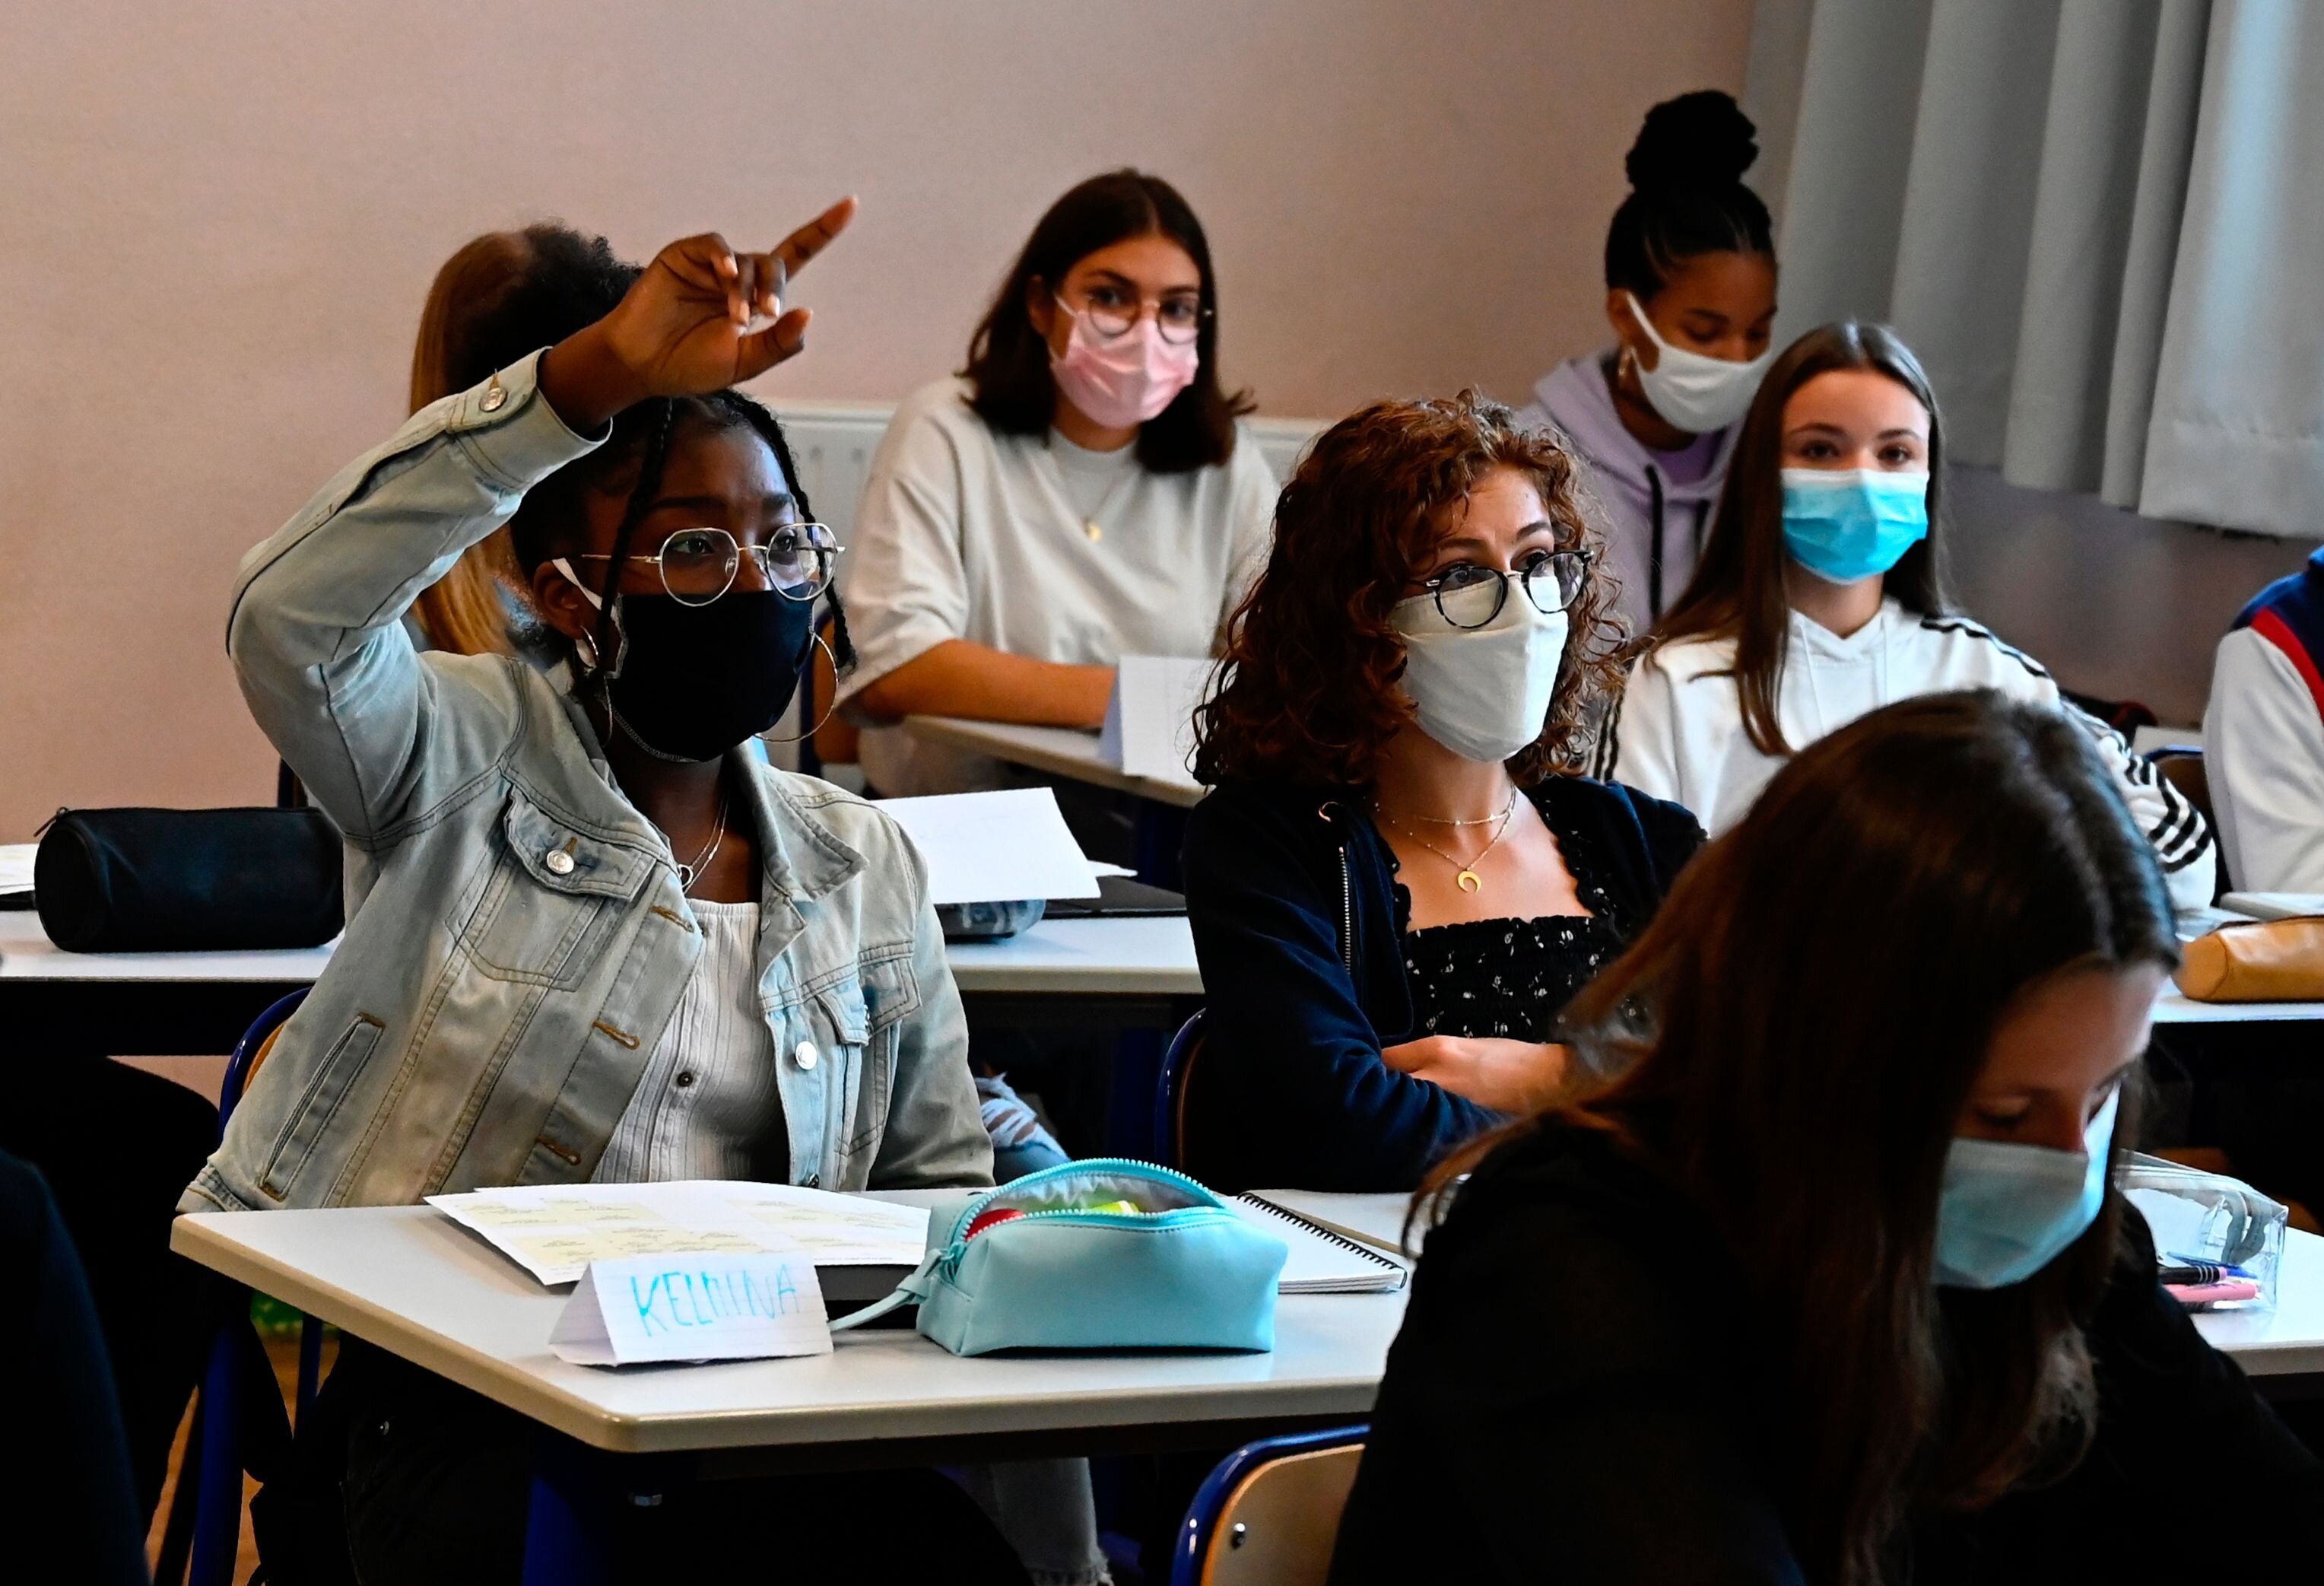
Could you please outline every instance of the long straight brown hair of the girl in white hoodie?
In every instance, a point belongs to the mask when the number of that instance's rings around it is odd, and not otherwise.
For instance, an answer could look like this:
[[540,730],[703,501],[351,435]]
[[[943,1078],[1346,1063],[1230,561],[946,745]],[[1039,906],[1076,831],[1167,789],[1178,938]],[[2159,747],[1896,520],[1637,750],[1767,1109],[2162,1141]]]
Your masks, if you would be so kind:
[[1783,595],[1783,407],[1817,374],[1875,370],[1929,409],[1929,537],[1903,553],[1882,588],[1906,612],[1941,616],[1957,609],[1945,577],[1945,419],[1920,358],[1887,326],[1843,319],[1783,349],[1759,381],[1759,395],[1743,414],[1727,486],[1720,491],[1710,540],[1694,579],[1655,633],[1650,646],[1676,640],[1734,640],[1736,693],[1743,700],[1743,733],[1759,753],[1783,756],[1776,691],[1792,640],[1792,607]]

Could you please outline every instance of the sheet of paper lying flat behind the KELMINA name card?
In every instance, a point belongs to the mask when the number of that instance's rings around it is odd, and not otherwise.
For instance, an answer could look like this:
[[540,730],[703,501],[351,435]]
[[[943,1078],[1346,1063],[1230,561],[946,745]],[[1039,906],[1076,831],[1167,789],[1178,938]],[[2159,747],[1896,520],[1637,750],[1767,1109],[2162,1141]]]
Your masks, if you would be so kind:
[[790,1184],[523,1184],[428,1205],[548,1286],[576,1281],[590,1263],[683,1253],[804,1249],[827,1267],[909,1267],[927,1244],[925,1207]]

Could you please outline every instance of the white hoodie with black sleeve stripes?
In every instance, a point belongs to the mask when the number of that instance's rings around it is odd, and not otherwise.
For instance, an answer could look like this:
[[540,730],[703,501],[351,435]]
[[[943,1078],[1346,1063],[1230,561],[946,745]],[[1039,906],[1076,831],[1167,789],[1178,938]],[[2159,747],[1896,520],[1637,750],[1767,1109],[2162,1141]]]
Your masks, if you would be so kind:
[[[1713,835],[1741,821],[1783,760],[1759,753],[1743,730],[1734,660],[1734,640],[1680,640],[1648,653],[1599,740],[1599,774],[1611,767],[1615,781],[1685,805]],[[2119,733],[2061,700],[2038,660],[1966,616],[1917,616],[1882,600],[1880,614],[1843,640],[1792,612],[1776,723],[1787,744],[1803,749],[1882,705],[1952,688],[1999,688],[2087,728],[2122,784],[2131,819],[2154,844],[2171,902],[2180,909],[2210,902],[2217,851],[2194,805],[2131,753]]]

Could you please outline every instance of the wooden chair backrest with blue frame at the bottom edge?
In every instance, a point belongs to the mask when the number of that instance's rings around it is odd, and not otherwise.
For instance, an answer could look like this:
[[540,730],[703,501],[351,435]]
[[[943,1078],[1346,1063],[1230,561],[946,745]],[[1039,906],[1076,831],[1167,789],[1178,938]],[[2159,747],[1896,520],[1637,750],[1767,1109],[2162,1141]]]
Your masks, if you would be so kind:
[[1171,1546],[1171,1586],[1325,1586],[1362,1426],[1262,1437],[1218,1463]]

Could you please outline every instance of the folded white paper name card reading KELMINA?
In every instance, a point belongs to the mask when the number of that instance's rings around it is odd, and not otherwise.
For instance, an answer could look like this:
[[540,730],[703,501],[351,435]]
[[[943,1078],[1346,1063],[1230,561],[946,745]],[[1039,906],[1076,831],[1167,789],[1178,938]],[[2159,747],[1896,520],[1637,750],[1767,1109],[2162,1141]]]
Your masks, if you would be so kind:
[[823,1288],[806,1251],[593,1260],[548,1330],[572,1365],[827,1356]]

